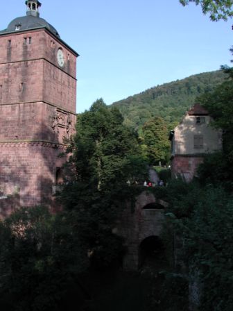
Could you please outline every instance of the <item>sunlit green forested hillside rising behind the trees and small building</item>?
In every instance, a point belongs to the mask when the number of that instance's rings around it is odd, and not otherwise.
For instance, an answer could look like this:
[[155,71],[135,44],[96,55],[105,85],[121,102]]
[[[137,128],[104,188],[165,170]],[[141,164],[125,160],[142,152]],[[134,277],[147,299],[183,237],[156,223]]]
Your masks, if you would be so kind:
[[174,121],[180,121],[197,96],[212,92],[224,79],[225,74],[221,70],[196,74],[151,87],[112,105],[119,108],[125,124],[131,128],[138,129],[152,117],[162,117],[169,125]]

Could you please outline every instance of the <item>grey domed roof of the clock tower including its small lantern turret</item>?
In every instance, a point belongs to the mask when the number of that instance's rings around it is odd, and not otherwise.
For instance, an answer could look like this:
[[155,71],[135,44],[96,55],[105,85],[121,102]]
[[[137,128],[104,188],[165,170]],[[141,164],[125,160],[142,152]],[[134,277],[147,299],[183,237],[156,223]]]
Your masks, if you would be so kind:
[[27,6],[26,16],[13,19],[6,29],[0,31],[0,35],[5,33],[17,33],[38,28],[46,28],[51,31],[53,35],[60,38],[58,31],[56,31],[51,24],[46,22],[45,19],[40,18],[39,8],[42,5],[40,1],[27,0],[25,4]]

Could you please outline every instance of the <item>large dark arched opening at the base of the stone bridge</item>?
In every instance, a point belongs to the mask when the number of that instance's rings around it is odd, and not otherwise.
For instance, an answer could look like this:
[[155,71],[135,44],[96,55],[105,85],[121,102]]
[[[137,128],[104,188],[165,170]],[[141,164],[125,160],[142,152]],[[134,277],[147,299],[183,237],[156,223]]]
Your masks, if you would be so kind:
[[139,245],[139,268],[153,267],[159,270],[166,267],[166,263],[162,239],[154,235],[146,237]]

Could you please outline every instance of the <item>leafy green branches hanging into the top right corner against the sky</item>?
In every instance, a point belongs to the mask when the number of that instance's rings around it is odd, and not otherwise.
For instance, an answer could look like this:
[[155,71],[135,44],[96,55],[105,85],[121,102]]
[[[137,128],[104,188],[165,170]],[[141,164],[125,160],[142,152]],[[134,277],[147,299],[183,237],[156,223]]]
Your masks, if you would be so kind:
[[197,6],[200,4],[203,14],[209,13],[209,18],[214,22],[233,16],[232,0],[180,0],[182,6],[187,6],[190,2],[196,3]]

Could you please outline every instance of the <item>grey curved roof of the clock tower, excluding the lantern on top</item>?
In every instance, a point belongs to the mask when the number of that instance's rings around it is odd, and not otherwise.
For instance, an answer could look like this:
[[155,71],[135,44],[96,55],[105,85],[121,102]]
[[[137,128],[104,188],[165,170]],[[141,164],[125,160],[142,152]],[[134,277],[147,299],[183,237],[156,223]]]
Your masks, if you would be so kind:
[[[17,30],[16,26],[19,26]],[[58,31],[56,31],[56,29],[51,24],[46,22],[45,19],[33,15],[26,15],[13,19],[12,22],[10,22],[10,24],[8,25],[8,28],[0,31],[0,35],[6,33],[19,33],[21,31],[28,31],[38,28],[46,28],[51,33],[53,33],[53,35],[60,38]]]

